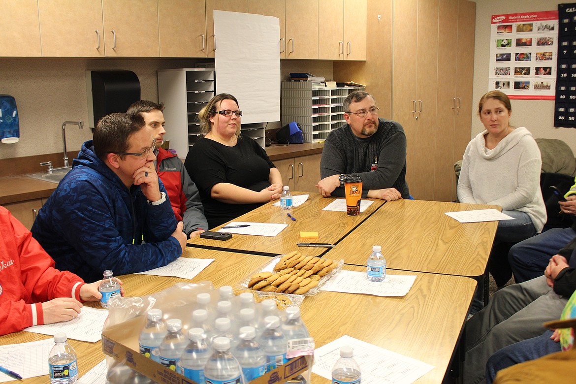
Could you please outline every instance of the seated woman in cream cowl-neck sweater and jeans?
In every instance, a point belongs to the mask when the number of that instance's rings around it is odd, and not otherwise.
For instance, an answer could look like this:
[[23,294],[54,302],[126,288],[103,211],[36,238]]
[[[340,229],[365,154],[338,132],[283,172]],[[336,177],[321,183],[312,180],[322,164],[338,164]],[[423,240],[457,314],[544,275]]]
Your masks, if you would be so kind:
[[539,233],[546,222],[540,191],[542,159],[532,134],[509,124],[510,99],[499,91],[486,93],[478,111],[486,130],[468,143],[460,178],[461,203],[494,204],[514,220],[501,220],[490,254],[490,272],[498,286],[511,276],[507,249],[502,243],[516,243]]

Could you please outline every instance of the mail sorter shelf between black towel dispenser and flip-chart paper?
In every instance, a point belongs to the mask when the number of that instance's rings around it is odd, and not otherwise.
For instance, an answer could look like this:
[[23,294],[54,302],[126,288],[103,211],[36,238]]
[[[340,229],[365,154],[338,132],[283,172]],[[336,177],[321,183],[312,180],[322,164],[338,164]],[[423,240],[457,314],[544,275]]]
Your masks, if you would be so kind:
[[164,102],[165,140],[178,157],[202,137],[198,115],[216,92],[214,69],[158,70],[158,101]]

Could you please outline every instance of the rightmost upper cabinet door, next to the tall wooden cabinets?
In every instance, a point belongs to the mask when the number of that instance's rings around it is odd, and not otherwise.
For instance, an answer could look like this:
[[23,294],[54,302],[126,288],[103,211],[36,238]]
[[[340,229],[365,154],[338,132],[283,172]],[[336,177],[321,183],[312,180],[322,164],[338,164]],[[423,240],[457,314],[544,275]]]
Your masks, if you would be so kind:
[[344,0],[344,59],[366,60],[366,0]]

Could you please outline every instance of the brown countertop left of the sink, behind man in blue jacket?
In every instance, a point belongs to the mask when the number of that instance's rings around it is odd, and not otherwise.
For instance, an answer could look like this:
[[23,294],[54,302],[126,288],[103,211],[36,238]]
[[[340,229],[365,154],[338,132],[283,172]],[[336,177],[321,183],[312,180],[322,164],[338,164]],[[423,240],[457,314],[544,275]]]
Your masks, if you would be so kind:
[[50,197],[58,184],[28,176],[0,177],[0,204]]

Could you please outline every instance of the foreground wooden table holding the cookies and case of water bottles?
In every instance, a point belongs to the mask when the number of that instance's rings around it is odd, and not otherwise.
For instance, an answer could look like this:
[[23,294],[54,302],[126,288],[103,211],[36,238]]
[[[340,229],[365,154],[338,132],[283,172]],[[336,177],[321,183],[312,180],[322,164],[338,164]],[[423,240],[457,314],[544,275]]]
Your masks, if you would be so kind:
[[[215,288],[222,285],[236,286],[254,269],[270,261],[266,256],[192,248],[187,248],[183,256],[214,258],[215,261],[192,279],[192,282],[210,280]],[[353,265],[345,265],[344,269],[364,270],[363,267]],[[417,383],[440,383],[464,324],[476,283],[461,276],[406,271],[394,273],[418,276],[406,296],[384,298],[321,291],[305,298],[301,306],[302,318],[314,337],[316,347],[348,334],[432,364],[435,368]],[[179,277],[136,274],[120,278],[123,280],[126,296],[144,296],[178,282],[190,282]],[[98,303],[90,306],[97,307]],[[49,337],[22,331],[0,337],[0,344],[24,343]],[[70,344],[78,353],[80,376],[105,357],[100,341],[86,343],[70,340]],[[43,376],[21,382],[28,384],[47,381],[47,376]],[[312,376],[313,384],[329,382],[317,375]]]

